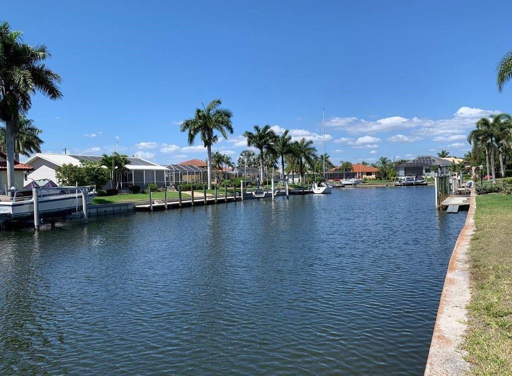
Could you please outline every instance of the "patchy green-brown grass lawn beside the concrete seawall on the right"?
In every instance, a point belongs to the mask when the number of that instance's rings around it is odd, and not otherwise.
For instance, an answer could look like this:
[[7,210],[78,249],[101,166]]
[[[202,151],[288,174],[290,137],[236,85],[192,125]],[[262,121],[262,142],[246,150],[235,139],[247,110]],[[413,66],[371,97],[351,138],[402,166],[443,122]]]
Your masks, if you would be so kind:
[[512,375],[512,196],[477,196],[463,344],[473,375]]

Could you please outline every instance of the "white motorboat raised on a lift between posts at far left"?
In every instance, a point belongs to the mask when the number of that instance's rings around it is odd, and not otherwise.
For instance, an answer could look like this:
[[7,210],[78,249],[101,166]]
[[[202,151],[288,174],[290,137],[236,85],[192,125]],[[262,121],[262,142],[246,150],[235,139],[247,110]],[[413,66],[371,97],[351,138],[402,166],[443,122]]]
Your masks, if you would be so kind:
[[[36,192],[37,211],[41,218],[67,215],[78,212],[96,196],[96,190],[91,187],[52,187],[49,189],[14,192],[14,196],[0,196],[0,221],[11,219],[26,219],[34,216],[34,197]],[[82,197],[85,195],[85,197]]]

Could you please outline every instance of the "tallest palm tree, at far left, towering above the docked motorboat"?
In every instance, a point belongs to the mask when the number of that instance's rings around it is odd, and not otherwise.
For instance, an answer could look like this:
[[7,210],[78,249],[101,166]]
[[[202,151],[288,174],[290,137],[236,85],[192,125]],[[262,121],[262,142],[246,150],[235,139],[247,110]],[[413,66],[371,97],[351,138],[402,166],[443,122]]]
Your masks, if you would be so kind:
[[6,124],[7,184],[14,184],[14,138],[19,128],[19,114],[32,105],[32,95],[39,92],[52,100],[62,93],[60,76],[44,61],[50,57],[45,45],[29,46],[21,31],[11,31],[7,22],[0,24],[0,119]]

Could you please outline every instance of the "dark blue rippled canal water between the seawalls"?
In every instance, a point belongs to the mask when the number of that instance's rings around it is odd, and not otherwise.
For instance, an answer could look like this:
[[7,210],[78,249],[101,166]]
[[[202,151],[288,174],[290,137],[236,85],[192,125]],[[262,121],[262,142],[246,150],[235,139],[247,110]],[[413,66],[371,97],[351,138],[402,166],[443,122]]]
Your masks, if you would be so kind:
[[465,217],[357,188],[0,233],[0,374],[420,375]]

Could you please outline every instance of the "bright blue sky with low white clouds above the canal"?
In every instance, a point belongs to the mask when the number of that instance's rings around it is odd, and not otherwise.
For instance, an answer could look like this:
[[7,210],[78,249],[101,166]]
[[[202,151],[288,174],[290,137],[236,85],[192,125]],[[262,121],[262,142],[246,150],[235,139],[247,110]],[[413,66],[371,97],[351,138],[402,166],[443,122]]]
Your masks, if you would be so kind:
[[[236,158],[254,124],[290,129],[333,162],[463,155],[480,116],[510,112],[495,67],[512,49],[510,2],[3,2],[44,43],[62,100],[36,96],[44,151],[205,158],[179,122],[213,98],[234,113],[216,145]],[[199,140],[198,140],[199,141]]]

